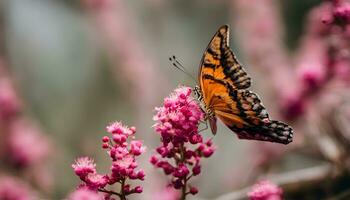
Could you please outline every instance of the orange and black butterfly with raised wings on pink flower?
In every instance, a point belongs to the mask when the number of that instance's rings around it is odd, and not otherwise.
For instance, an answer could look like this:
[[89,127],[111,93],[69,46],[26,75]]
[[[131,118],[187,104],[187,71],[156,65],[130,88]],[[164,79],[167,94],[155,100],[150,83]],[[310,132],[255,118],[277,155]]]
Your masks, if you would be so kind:
[[257,94],[249,91],[251,78],[229,47],[229,27],[223,25],[206,48],[194,91],[203,103],[213,134],[219,118],[240,139],[288,144],[293,129],[271,120]]

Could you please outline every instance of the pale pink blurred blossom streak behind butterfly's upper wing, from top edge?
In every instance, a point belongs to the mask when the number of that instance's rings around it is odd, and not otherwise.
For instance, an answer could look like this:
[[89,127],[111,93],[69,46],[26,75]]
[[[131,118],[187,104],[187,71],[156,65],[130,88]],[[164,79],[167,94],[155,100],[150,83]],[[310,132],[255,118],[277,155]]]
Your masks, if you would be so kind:
[[[233,31],[237,31],[236,41],[243,50],[245,60],[242,61],[247,61],[248,73],[260,72],[264,77],[260,85],[270,86],[264,90],[267,92],[265,97],[275,99],[293,91],[295,76],[283,44],[284,29],[278,4],[273,0],[230,2],[234,13],[232,20],[239,27]],[[255,84],[255,87],[260,85]]]

